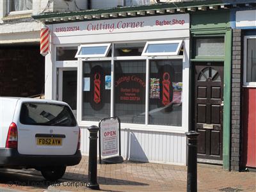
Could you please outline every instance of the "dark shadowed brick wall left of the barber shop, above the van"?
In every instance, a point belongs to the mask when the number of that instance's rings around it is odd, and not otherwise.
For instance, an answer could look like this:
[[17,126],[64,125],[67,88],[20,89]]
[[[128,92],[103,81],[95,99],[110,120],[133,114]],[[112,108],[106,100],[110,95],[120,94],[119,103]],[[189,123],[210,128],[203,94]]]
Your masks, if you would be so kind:
[[0,47],[0,96],[44,92],[44,57],[39,49],[39,45]]

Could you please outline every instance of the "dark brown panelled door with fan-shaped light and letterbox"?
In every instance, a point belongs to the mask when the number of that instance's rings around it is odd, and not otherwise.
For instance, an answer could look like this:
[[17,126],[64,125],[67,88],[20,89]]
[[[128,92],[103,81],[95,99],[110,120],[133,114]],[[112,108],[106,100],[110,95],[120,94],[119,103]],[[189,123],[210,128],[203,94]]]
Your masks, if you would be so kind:
[[223,62],[194,63],[193,124],[198,137],[198,162],[222,163]]

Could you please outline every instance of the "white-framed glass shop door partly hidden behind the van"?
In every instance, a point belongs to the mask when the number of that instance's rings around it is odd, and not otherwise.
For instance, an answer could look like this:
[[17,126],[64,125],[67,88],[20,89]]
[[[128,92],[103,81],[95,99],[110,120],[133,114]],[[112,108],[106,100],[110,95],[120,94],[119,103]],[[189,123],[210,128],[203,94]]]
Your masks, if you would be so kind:
[[58,100],[67,102],[76,116],[77,68],[59,68],[58,72]]

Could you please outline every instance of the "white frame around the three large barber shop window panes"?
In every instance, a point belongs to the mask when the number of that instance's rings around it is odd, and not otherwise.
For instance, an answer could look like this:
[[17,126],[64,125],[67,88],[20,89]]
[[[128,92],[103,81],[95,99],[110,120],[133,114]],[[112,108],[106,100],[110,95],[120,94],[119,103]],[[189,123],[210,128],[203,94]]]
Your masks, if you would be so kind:
[[[160,41],[157,41],[159,44]],[[161,41],[162,42],[162,41]],[[173,41],[163,41],[163,42],[173,42]],[[183,42],[183,40],[179,40],[179,42]],[[77,68],[77,122],[81,127],[90,127],[93,124],[97,124],[95,121],[86,121],[82,120],[82,107],[83,107],[83,62],[84,61],[111,61],[111,110],[109,111],[109,115],[113,116],[114,114],[114,90],[113,90],[113,78],[114,78],[114,68],[116,60],[145,60],[146,61],[146,81],[149,78],[149,64],[150,60],[182,60],[182,90],[184,90],[184,94],[182,94],[182,125],[181,126],[173,126],[173,125],[149,125],[148,124],[148,99],[145,100],[145,124],[127,124],[121,123],[121,129],[133,129],[133,130],[141,130],[141,131],[161,131],[161,132],[175,132],[178,134],[184,134],[184,132],[188,131],[188,106],[189,106],[189,98],[186,92],[189,91],[189,59],[187,58],[188,54],[186,50],[189,50],[189,40],[186,40],[188,44],[184,44],[184,54],[183,55],[168,55],[168,56],[118,56],[115,57],[115,44],[113,43],[111,46],[112,55],[108,58],[79,58],[79,67]],[[119,42],[118,42],[119,43]],[[125,42],[127,44],[131,42]],[[102,44],[101,44],[102,45]],[[78,51],[77,51],[78,52]],[[148,73],[148,74],[147,74]],[[79,80],[78,80],[79,79]],[[145,94],[149,93],[147,90],[149,89],[149,84],[147,84]],[[147,97],[146,97],[147,98]]]

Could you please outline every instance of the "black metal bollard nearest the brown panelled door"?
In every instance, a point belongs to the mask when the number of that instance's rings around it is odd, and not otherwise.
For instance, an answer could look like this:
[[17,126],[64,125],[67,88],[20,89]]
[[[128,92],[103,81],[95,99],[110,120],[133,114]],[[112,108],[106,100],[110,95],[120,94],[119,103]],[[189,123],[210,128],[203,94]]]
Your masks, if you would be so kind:
[[186,132],[188,137],[188,175],[187,192],[197,191],[197,137],[196,131]]

